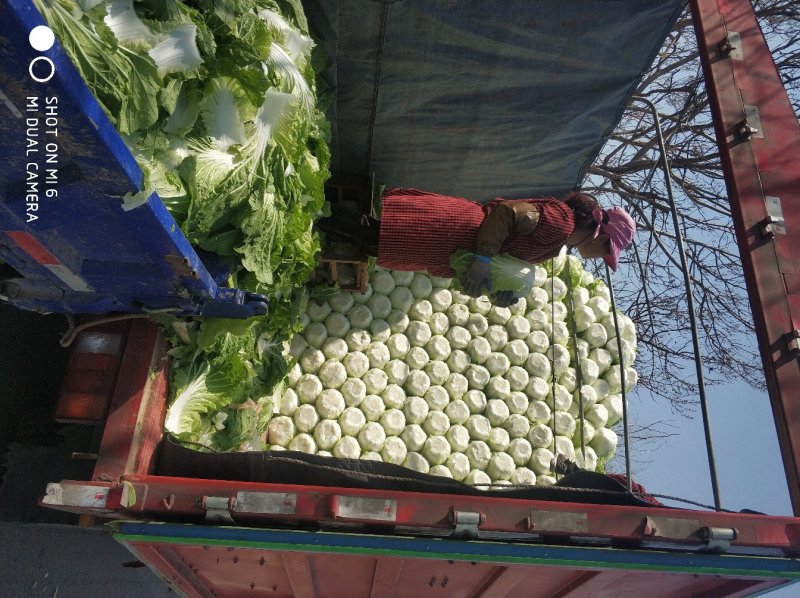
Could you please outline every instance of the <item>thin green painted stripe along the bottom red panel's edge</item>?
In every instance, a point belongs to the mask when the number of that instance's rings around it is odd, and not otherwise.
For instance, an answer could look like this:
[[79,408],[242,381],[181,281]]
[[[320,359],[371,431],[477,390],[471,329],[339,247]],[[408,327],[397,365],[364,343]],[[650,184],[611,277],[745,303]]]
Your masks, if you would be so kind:
[[[518,564],[518,565],[551,565],[558,567],[577,567],[577,568],[602,568],[602,569],[618,569],[627,571],[658,571],[670,573],[694,573],[699,575],[723,575],[735,577],[769,577],[778,579],[800,579],[800,571],[772,571],[769,569],[757,568],[734,568],[734,567],[703,567],[694,565],[659,565],[656,563],[630,563],[619,562],[612,560],[580,560],[580,559],[560,559],[560,558],[547,558],[547,557],[514,557],[509,555],[492,556],[489,554],[463,554],[458,552],[433,552],[433,551],[420,551],[420,550],[402,550],[402,549],[388,549],[370,547],[369,549],[363,547],[351,546],[329,546],[320,544],[307,544],[301,542],[265,542],[265,541],[251,541],[251,540],[220,540],[215,538],[185,538],[178,536],[150,536],[139,534],[125,534],[118,533],[114,537],[120,542],[144,542],[144,543],[161,543],[161,544],[180,544],[188,546],[220,546],[225,548],[252,548],[256,550],[271,550],[271,551],[291,551],[291,552],[314,552],[325,554],[350,554],[361,556],[385,556],[385,557],[399,557],[399,558],[422,558],[434,560],[454,560],[454,561],[478,561],[487,563],[503,563],[503,564]],[[558,547],[563,548],[563,547]],[[614,551],[615,554],[625,553],[628,551],[619,549],[593,549],[586,548],[588,551],[594,551],[594,554],[602,557],[603,551]],[[641,553],[640,553],[641,554]],[[658,553],[651,553],[656,556]],[[701,558],[703,555],[698,555]],[[765,557],[725,557],[729,559],[742,558],[752,563],[753,560],[759,560]],[[732,563],[733,564],[733,561]]]

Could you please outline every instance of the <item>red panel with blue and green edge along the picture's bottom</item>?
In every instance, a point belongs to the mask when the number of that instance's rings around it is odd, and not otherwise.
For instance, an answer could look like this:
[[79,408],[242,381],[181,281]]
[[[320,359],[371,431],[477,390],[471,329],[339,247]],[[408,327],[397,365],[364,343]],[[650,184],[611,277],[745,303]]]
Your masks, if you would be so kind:
[[296,530],[123,523],[116,538],[192,598],[733,597],[800,573],[785,559]]

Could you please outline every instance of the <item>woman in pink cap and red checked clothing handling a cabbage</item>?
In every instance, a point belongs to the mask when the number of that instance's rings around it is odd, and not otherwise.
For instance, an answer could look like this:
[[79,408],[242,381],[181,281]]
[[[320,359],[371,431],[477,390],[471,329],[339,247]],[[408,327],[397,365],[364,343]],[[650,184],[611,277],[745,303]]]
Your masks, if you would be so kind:
[[[379,266],[391,270],[452,278],[452,253],[474,251],[477,257],[462,281],[464,291],[473,297],[490,290],[489,263],[500,253],[538,264],[557,256],[566,245],[585,259],[603,258],[616,271],[620,253],[636,233],[636,223],[625,210],[603,209],[586,193],[572,192],[563,200],[495,199],[479,204],[404,188],[386,191],[380,220],[333,216],[319,226],[348,238],[377,257]],[[498,305],[508,305],[512,296],[499,293],[494,299]]]

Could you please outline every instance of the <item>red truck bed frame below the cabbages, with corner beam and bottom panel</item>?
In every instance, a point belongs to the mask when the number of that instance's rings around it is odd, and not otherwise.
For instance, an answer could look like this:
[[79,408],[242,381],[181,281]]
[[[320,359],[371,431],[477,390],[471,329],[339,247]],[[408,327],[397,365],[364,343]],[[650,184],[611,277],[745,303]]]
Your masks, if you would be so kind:
[[789,517],[157,475],[165,348],[131,324],[92,479],[42,503],[120,521],[185,596],[748,596],[800,578]]

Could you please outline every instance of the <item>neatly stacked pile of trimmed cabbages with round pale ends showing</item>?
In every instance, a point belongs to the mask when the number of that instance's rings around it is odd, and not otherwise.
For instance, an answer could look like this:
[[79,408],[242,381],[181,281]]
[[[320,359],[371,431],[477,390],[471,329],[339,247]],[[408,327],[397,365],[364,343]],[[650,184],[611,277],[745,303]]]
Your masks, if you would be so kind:
[[365,293],[309,303],[268,448],[478,487],[551,484],[558,454],[602,470],[622,376],[626,390],[637,380],[635,327],[618,314],[617,343],[605,283],[564,255],[509,308],[451,282],[378,268]]

